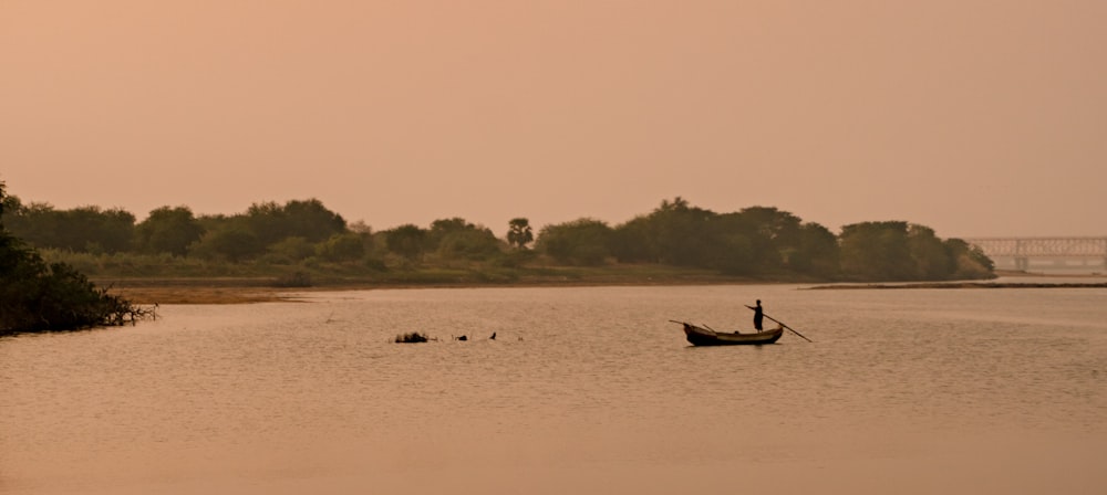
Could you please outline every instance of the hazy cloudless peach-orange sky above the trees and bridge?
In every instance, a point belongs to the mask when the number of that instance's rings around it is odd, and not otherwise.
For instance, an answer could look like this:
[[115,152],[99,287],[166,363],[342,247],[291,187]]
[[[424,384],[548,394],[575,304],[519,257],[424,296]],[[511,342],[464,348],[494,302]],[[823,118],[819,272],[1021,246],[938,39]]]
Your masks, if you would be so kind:
[[1107,235],[1107,1],[0,0],[0,180],[58,208],[318,198],[374,229]]

